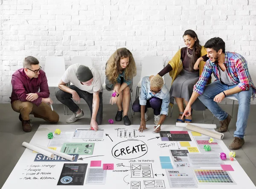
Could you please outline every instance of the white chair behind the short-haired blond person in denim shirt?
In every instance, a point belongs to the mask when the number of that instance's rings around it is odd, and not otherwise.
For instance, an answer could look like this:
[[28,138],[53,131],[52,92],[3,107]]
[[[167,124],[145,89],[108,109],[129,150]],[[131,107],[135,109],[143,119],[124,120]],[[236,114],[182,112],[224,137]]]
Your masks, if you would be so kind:
[[[161,56],[145,56],[143,58],[140,81],[138,82],[136,87],[135,99],[137,99],[138,96],[140,95],[140,88],[141,88],[141,82],[143,77],[156,75],[158,72],[160,72],[163,69],[163,67],[164,67],[163,58]],[[164,81],[164,77],[163,77],[163,81]]]

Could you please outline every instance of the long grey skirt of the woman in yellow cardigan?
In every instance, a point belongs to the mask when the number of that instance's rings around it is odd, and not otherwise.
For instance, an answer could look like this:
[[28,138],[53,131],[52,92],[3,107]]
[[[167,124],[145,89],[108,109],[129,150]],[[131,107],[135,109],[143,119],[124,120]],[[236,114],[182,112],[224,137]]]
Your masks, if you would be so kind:
[[[172,83],[170,89],[171,103],[174,102],[174,97],[183,98],[189,102],[193,93],[193,87],[198,82],[198,79],[198,72],[189,72],[183,69]],[[191,107],[196,111],[205,110],[205,105],[199,99],[196,99]]]

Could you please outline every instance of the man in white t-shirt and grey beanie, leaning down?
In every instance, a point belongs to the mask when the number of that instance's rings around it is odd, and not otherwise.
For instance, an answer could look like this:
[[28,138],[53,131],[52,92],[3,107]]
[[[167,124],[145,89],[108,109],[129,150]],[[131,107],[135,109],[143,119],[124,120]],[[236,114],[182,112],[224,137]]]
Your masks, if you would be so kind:
[[[67,87],[69,82],[73,85]],[[62,76],[58,87],[60,90],[56,93],[56,98],[74,113],[66,122],[73,123],[84,116],[83,110],[72,100],[80,102],[80,98],[83,98],[90,108],[90,126],[94,130],[98,130],[98,124],[101,124],[103,114],[103,87],[99,71],[81,64],[71,65]]]

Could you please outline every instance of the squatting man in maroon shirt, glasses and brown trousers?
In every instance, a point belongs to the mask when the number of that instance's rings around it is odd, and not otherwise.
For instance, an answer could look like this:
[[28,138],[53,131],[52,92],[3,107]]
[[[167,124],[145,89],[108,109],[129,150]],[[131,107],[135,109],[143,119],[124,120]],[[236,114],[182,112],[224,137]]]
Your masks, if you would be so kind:
[[[40,91],[39,91],[40,89]],[[38,92],[39,91],[39,92]],[[29,114],[42,118],[50,123],[57,123],[58,114],[51,109],[52,99],[45,72],[41,70],[38,59],[27,56],[23,68],[12,75],[12,109],[20,113],[19,119],[25,132],[32,130]]]

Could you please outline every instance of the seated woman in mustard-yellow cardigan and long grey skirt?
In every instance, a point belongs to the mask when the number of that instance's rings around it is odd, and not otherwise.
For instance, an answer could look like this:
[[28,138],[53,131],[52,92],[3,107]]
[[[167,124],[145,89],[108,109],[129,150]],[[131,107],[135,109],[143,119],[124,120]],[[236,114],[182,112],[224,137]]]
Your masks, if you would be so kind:
[[[185,120],[181,119],[185,109],[183,102],[185,102],[186,105],[189,102],[193,87],[203,71],[204,61],[208,58],[207,56],[204,56],[207,54],[207,51],[200,45],[200,41],[195,31],[186,30],[183,34],[183,39],[186,47],[177,51],[172,60],[168,62],[168,65],[158,74],[164,76],[169,72],[172,77],[170,104],[173,105],[175,99],[179,107],[180,114],[177,118],[177,122],[185,121],[186,123],[191,123],[192,116],[186,117]],[[200,58],[201,56],[202,58]],[[204,59],[204,61],[201,61],[201,59]],[[199,70],[197,69],[198,65]],[[194,69],[194,67],[196,69]],[[199,99],[197,99],[196,102],[193,103],[192,109],[205,110],[205,106]]]

